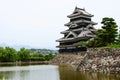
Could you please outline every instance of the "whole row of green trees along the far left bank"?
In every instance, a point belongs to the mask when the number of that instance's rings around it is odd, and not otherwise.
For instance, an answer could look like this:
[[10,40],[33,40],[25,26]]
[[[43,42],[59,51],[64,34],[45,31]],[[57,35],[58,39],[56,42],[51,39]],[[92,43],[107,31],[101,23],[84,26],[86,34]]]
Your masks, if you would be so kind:
[[15,61],[48,61],[54,58],[55,55],[50,54],[40,54],[40,53],[30,53],[30,50],[21,48],[16,51],[10,47],[0,47],[0,62],[15,62]]

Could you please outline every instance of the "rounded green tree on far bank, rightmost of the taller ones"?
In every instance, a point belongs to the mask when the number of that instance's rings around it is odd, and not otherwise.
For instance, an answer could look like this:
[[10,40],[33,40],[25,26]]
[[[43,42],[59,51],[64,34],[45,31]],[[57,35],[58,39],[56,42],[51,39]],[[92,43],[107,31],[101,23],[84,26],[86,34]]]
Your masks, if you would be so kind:
[[30,51],[25,48],[21,48],[18,51],[18,60],[19,61],[28,61],[30,59]]

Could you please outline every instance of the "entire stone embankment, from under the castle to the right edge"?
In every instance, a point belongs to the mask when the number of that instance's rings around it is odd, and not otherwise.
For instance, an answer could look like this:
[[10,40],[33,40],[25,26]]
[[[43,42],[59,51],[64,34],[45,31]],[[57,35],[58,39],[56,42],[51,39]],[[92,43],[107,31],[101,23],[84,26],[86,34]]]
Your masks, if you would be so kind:
[[69,64],[78,71],[120,72],[120,49],[89,48],[78,54],[59,54],[51,63]]

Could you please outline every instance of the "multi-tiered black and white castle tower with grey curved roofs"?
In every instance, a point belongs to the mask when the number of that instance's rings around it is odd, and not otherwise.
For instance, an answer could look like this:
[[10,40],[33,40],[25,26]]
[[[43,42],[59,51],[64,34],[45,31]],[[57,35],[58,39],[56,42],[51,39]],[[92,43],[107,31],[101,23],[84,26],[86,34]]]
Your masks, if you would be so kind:
[[67,16],[70,22],[66,23],[67,30],[62,31],[63,38],[56,40],[59,42],[59,53],[80,52],[85,50],[78,43],[88,41],[95,36],[96,29],[93,25],[97,23],[91,21],[92,14],[86,12],[85,9],[76,7],[74,12]]

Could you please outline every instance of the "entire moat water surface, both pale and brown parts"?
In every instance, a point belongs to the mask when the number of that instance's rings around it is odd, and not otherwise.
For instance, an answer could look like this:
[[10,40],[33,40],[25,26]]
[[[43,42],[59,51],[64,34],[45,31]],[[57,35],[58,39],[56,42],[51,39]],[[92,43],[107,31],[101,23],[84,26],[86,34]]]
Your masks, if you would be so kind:
[[120,80],[120,74],[79,72],[67,66],[0,66],[0,80]]

